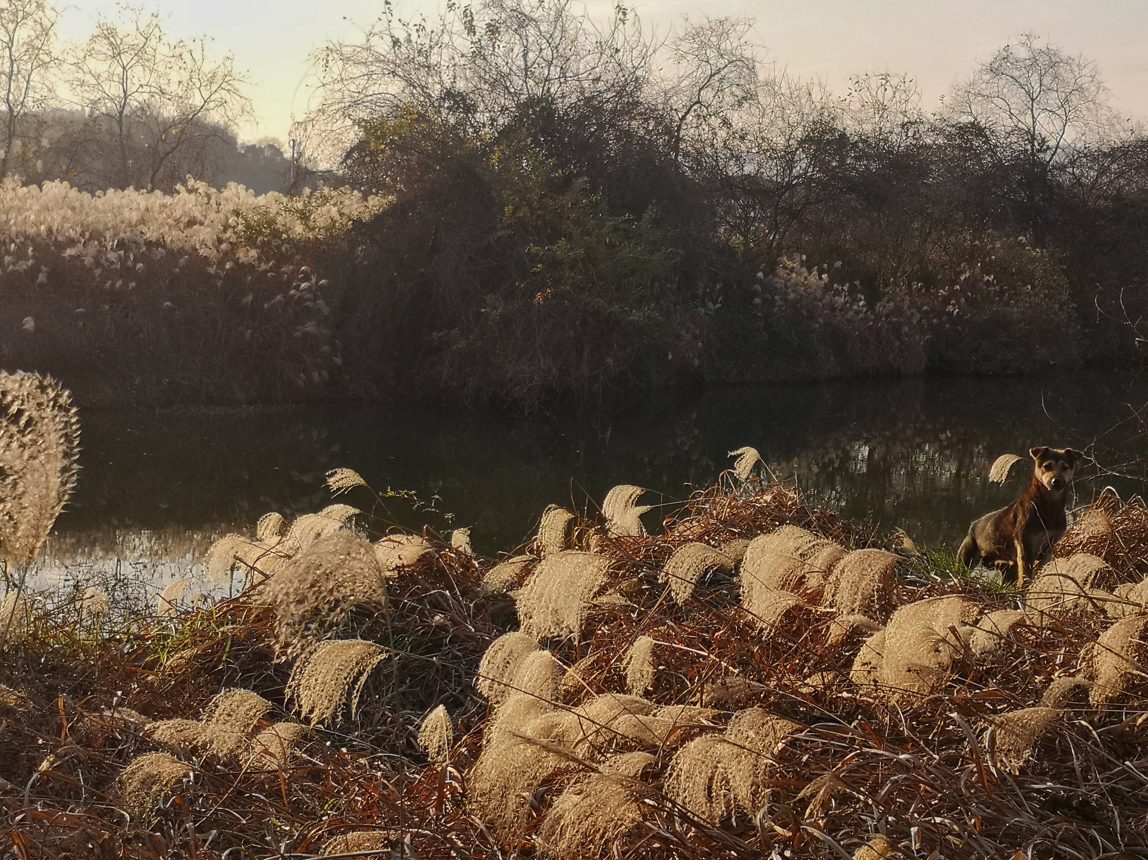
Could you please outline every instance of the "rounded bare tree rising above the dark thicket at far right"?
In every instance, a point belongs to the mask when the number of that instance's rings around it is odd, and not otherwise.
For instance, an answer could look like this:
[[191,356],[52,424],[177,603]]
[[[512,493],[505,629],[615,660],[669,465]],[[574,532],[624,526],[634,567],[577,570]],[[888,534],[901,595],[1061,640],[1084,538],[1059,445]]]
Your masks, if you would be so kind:
[[1111,131],[1115,121],[1096,64],[1031,33],[982,63],[954,88],[947,108],[1046,165],[1068,147]]

